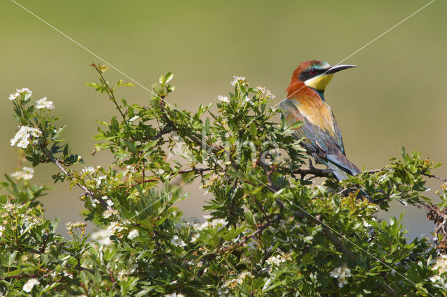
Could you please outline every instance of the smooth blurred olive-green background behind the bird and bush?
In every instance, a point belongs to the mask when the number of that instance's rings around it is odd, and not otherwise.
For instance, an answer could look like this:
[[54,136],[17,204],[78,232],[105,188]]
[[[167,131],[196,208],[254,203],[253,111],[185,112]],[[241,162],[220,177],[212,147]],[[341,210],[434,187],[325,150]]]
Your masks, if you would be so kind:
[[[266,86],[279,102],[301,61],[338,63],[428,2],[17,1],[149,89],[172,71],[177,89],[168,101],[190,110],[230,91],[233,75]],[[337,74],[328,86],[325,98],[359,167],[382,167],[402,146],[446,163],[446,9],[446,1],[435,1],[344,61],[358,68]],[[53,114],[68,124],[66,138],[86,166],[107,165],[107,153],[90,154],[91,136],[95,120],[108,121],[116,111],[84,85],[96,80],[88,65],[99,60],[13,1],[1,1],[0,11],[0,171],[19,166],[17,149],[9,146],[17,124],[8,95],[22,86],[34,92],[33,100],[54,101]],[[110,81],[123,77],[107,74]],[[151,96],[139,86],[118,95],[142,105]],[[31,181],[52,184],[54,172],[50,165],[37,167]],[[446,177],[447,167],[435,174]],[[440,183],[430,185],[427,196],[435,197]],[[185,191],[191,196],[179,208],[186,217],[201,217],[207,197],[197,185]],[[80,218],[80,193],[57,184],[43,199],[47,216],[61,218],[61,231],[64,222]],[[396,204],[381,215],[401,212],[409,237],[432,231],[425,213],[412,206]]]

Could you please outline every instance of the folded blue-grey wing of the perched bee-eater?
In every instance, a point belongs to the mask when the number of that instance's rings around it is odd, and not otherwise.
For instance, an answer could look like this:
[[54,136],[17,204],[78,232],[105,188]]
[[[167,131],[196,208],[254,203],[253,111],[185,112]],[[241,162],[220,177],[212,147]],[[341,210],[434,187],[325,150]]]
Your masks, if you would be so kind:
[[302,121],[300,128],[295,129],[295,135],[300,138],[305,137],[303,144],[307,150],[316,155],[320,162],[330,167],[339,179],[344,179],[346,173],[359,174],[360,170],[344,155],[342,135],[335,119],[333,119],[332,131],[321,128],[323,125],[311,123],[312,119],[308,119],[300,112],[299,104],[296,100],[284,99],[279,106],[289,124]]

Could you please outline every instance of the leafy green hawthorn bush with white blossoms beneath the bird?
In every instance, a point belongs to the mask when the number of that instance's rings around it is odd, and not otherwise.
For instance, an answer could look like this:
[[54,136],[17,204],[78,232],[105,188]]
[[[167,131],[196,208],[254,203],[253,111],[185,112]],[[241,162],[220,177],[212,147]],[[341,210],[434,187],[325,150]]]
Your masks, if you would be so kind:
[[[244,77],[219,96],[216,113],[211,105],[189,112],[166,101],[171,73],[140,106],[115,97],[131,84],[110,84],[107,67],[92,66],[99,82],[88,85],[117,109],[94,136],[95,152],[114,156],[108,168],[82,169],[52,101],[31,102],[27,88],[9,97],[19,123],[11,145],[30,165],[1,183],[1,294],[446,296],[446,185],[440,204],[424,196],[439,165],[402,151],[382,169],[338,182],[305,167],[293,135],[301,123],[280,121],[270,91]],[[69,238],[56,233],[59,221],[47,220],[39,201],[49,188],[30,181],[43,163],[59,169],[54,182],[82,190],[82,215],[100,231],[68,222]],[[193,181],[212,194],[200,220],[174,206],[193,199],[182,192]],[[379,220],[393,200],[427,211],[433,239],[405,238],[402,217]]]

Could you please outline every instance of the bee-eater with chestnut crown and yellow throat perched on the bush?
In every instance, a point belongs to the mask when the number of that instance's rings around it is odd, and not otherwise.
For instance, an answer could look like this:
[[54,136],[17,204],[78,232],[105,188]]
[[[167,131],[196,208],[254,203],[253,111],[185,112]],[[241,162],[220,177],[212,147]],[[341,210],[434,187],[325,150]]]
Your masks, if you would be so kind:
[[299,138],[305,137],[302,144],[309,154],[331,169],[339,181],[347,174],[359,174],[360,169],[346,158],[342,134],[325,102],[324,90],[334,73],[352,67],[356,66],[330,66],[318,60],[302,62],[293,72],[287,98],[280,102],[288,123],[302,121],[295,133]]

